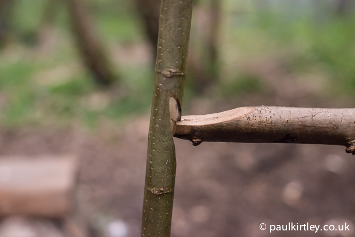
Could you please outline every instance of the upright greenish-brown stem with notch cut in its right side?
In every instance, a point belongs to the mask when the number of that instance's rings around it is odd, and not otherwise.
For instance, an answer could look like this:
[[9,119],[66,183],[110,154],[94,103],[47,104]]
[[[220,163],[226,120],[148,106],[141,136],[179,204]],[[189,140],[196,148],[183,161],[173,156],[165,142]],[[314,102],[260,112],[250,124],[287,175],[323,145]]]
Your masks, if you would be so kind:
[[176,159],[169,100],[182,105],[192,0],[162,0],[141,236],[170,236]]

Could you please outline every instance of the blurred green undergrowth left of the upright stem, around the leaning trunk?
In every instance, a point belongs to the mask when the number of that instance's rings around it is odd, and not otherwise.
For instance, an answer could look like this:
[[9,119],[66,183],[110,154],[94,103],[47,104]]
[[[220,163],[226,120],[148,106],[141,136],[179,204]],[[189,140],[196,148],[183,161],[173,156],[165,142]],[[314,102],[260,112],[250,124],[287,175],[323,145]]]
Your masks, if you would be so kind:
[[[143,38],[137,17],[129,13],[131,3],[88,4],[108,48],[117,43],[139,43]],[[109,89],[95,85],[91,75],[80,66],[65,3],[55,3],[53,16],[46,12],[49,5],[41,0],[16,1],[14,6],[11,27],[15,41],[0,51],[0,121],[3,126],[65,125],[77,121],[93,128],[102,117],[121,119],[130,113],[148,111],[151,101],[147,98],[152,97],[154,78],[152,69],[124,67],[119,69],[120,85],[114,84]],[[41,47],[38,37],[45,20],[50,20],[59,37],[54,48],[38,54],[35,47]]]

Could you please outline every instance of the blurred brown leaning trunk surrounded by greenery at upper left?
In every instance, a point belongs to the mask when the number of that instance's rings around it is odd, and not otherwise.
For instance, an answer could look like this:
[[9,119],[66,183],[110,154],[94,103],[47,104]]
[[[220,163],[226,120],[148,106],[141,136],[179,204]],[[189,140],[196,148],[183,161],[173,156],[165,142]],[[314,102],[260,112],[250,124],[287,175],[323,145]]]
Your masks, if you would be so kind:
[[85,2],[83,0],[66,1],[85,65],[93,73],[97,83],[103,85],[112,83],[116,79],[116,75],[112,70],[107,53],[98,40],[94,26],[91,24],[92,21]]

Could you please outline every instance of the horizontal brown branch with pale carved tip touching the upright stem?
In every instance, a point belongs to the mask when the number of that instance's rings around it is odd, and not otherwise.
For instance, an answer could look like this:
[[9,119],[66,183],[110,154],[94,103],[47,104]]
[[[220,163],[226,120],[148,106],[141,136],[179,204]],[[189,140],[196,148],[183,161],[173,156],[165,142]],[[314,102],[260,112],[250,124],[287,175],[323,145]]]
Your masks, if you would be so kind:
[[355,109],[240,107],[182,116],[174,137],[202,142],[303,143],[346,146],[355,153]]

